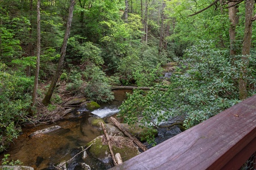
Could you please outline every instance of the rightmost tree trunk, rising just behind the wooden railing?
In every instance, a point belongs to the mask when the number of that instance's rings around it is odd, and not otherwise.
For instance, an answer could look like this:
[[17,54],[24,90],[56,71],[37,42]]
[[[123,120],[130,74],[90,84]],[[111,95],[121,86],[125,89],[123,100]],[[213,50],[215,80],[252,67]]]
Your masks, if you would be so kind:
[[241,100],[247,98],[247,67],[249,66],[249,55],[251,48],[251,35],[253,29],[253,8],[254,8],[254,0],[247,0],[245,2],[245,32],[244,32],[244,41],[242,44],[242,66],[241,66],[241,74],[239,80],[239,97]]

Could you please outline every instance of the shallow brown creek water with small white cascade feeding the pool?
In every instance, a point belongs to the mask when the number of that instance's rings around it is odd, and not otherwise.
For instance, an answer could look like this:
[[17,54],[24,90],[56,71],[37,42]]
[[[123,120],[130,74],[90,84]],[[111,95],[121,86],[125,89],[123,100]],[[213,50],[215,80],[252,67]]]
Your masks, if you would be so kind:
[[[115,91],[115,101],[110,104],[102,104],[100,109],[87,112],[84,108],[74,111],[73,117],[68,120],[57,121],[51,125],[37,125],[33,128],[23,128],[23,134],[15,139],[8,152],[13,160],[19,159],[23,165],[31,166],[35,169],[54,169],[53,165],[65,162],[82,150],[81,146],[92,141],[102,134],[88,124],[87,119],[91,116],[106,118],[119,112],[118,107],[126,97],[125,93],[131,91]],[[50,133],[39,134],[33,137],[29,135],[37,130],[60,126],[58,130]],[[3,158],[3,155],[0,158]],[[68,169],[82,169],[81,163],[90,165],[91,169],[107,169],[106,165],[88,155],[86,158],[76,156],[69,164]]]

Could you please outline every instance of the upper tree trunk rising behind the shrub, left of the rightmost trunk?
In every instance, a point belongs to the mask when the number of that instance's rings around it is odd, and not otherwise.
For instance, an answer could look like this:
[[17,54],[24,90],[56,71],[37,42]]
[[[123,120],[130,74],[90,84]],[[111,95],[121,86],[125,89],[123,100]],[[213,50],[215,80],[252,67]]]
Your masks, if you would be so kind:
[[229,27],[229,40],[230,40],[230,57],[233,59],[234,56],[237,55],[236,52],[236,26],[238,24],[239,16],[238,14],[238,6],[236,2],[228,3],[228,15],[230,19],[230,27]]

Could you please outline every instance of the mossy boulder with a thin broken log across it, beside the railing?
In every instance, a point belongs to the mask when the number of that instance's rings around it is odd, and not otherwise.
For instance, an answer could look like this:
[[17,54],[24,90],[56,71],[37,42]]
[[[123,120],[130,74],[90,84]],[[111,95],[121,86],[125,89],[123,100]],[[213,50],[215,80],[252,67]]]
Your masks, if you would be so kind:
[[[109,136],[109,138],[114,154],[119,153],[123,162],[140,154],[138,147],[133,144],[131,139],[120,136]],[[93,141],[89,142],[86,147],[90,145],[89,152],[94,158],[104,164],[111,164],[112,158],[104,135],[100,135],[93,139]]]

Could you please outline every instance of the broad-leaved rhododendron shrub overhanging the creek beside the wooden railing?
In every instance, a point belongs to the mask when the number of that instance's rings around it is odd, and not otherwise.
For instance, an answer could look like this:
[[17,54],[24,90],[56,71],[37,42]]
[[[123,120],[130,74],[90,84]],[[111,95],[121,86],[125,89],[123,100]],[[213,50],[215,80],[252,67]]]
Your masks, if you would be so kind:
[[[133,91],[120,107],[120,116],[128,124],[158,126],[169,117],[185,115],[184,126],[190,128],[209,117],[240,102],[238,78],[241,61],[239,56],[232,63],[225,52],[212,48],[211,42],[200,41],[199,45],[186,50],[186,58],[179,61],[187,69],[177,69],[171,76],[167,91],[152,89],[146,94]],[[251,57],[255,63],[255,58]],[[255,94],[255,73],[249,66],[245,79]],[[253,94],[252,93],[252,94]],[[140,118],[138,118],[140,117]]]

